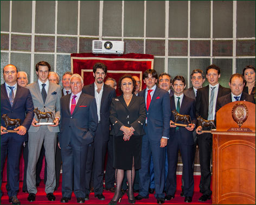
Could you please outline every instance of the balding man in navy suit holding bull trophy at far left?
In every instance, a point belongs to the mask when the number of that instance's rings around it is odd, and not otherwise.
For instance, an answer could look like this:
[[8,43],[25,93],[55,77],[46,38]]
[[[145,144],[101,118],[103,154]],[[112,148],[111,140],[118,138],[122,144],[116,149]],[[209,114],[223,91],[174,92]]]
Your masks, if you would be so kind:
[[[28,140],[27,130],[34,117],[34,106],[29,89],[17,85],[17,68],[7,65],[3,69],[5,83],[1,85],[1,115],[7,114],[11,119],[21,119],[21,125],[14,130],[17,133],[8,133],[4,119],[1,116],[1,185],[3,167],[8,156],[9,164],[9,202],[20,204],[17,198],[19,188],[20,154],[23,142]],[[10,127],[8,127],[10,129]],[[2,197],[1,191],[1,197]]]

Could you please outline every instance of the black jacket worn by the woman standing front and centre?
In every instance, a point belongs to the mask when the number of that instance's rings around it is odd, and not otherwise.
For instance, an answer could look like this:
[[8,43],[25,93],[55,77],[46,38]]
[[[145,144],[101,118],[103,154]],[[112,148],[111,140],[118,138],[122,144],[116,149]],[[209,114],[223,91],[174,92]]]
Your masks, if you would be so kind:
[[129,106],[126,105],[123,94],[113,98],[111,102],[110,121],[113,125],[110,134],[115,136],[123,135],[121,126],[133,127],[133,135],[140,136],[145,134],[143,124],[146,120],[145,100],[142,97],[132,95]]

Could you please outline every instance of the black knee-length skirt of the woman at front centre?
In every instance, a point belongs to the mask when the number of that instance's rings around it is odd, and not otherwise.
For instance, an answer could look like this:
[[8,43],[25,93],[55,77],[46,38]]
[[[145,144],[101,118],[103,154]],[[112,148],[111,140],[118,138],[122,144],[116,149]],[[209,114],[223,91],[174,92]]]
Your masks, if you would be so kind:
[[131,136],[125,141],[124,136],[113,136],[114,168],[132,170],[134,157],[135,169],[142,166],[142,136]]

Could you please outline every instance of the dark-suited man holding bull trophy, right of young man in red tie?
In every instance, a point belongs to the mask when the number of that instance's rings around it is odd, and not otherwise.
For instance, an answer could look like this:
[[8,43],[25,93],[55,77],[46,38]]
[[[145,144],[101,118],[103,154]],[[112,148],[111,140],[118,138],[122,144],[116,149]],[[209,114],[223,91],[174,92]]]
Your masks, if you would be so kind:
[[[165,200],[174,198],[177,183],[176,170],[178,163],[178,151],[181,152],[183,170],[182,176],[184,179],[184,196],[185,202],[191,202],[194,192],[194,170],[193,170],[193,146],[194,137],[193,130],[195,128],[195,100],[183,94],[185,88],[185,79],[183,76],[176,76],[172,80],[172,88],[174,88],[174,95],[170,98],[171,111],[176,110],[180,114],[190,116],[190,127],[177,127],[172,125],[175,122],[174,114],[171,114],[170,120],[170,139],[167,144],[168,153],[168,177],[167,177],[167,195]],[[177,123],[184,123],[177,121]]]

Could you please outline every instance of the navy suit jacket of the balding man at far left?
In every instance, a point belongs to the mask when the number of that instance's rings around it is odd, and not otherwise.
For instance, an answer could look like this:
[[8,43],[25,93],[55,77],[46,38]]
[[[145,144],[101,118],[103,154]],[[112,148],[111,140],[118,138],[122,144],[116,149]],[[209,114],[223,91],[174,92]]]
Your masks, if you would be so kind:
[[[7,114],[11,119],[21,119],[22,126],[24,126],[27,130],[31,125],[31,122],[34,117],[34,105],[31,98],[31,94],[29,89],[24,88],[22,86],[17,85],[17,91],[14,98],[14,103],[10,104],[10,100],[8,98],[8,94],[5,88],[5,84],[1,85],[1,116],[3,114]],[[4,119],[1,117],[1,126],[5,127]],[[17,136],[17,140],[27,141],[27,134],[21,136],[17,133],[8,133]],[[3,134],[1,137],[4,138],[8,136],[8,134]]]

